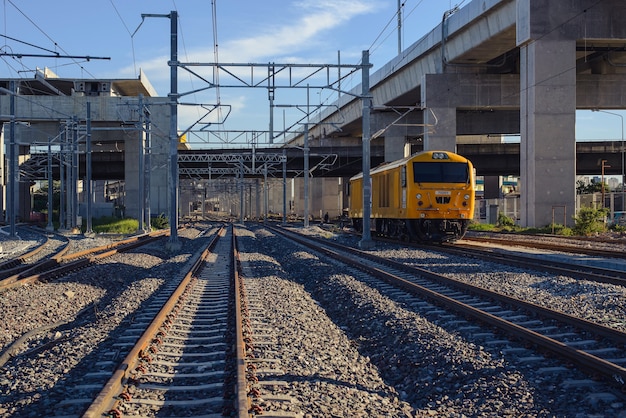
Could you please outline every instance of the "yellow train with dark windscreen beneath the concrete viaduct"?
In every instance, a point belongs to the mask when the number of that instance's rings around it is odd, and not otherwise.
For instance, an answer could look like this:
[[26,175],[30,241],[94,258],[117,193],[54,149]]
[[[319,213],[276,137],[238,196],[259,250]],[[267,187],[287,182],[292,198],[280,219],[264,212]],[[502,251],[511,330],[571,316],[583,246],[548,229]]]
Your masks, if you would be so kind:
[[[370,170],[371,230],[417,242],[462,238],[474,216],[472,163],[449,151],[425,151]],[[350,179],[349,215],[363,231],[363,173]]]

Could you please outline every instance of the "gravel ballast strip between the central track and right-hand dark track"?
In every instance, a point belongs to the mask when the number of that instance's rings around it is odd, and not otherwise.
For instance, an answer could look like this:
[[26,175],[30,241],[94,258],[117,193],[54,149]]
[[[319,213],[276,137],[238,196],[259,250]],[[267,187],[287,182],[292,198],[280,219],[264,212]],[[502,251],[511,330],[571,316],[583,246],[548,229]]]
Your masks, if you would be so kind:
[[[328,236],[312,230],[314,235]],[[396,299],[385,286],[363,283],[358,273],[355,276],[264,229],[246,231],[239,242],[250,266],[248,275],[254,277],[247,280],[261,282],[254,288],[265,289],[265,310],[280,327],[278,334],[289,335],[290,341],[278,344],[276,351],[287,374],[282,379],[289,382],[286,392],[297,397],[296,410],[304,416],[626,416],[624,404],[611,392],[591,396],[605,389],[585,375],[575,370],[550,373],[537,370],[532,361],[511,361],[501,345],[482,347],[454,328],[444,329],[433,323],[428,309],[421,312]],[[256,252],[259,249],[262,254]],[[415,256],[408,249],[384,251],[397,258]],[[483,276],[485,282],[499,280],[498,274]],[[517,287],[521,294],[527,286]],[[534,297],[534,291],[526,296]],[[337,336],[329,339],[331,330]],[[518,349],[513,343],[505,347]],[[554,367],[561,369],[558,364]],[[326,403],[319,400],[320,380],[333,382],[325,385]],[[342,402],[347,390],[367,401]],[[334,405],[333,415],[325,415],[320,403]],[[355,405],[363,404],[369,409],[355,410]]]

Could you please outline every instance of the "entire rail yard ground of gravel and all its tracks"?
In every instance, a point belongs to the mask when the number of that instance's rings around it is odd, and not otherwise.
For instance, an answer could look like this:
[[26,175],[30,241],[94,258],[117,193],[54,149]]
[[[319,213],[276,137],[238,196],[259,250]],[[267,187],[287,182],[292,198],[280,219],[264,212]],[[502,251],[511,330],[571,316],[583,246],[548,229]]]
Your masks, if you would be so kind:
[[[21,259],[0,263],[7,417],[623,416],[626,277],[578,264],[623,260],[617,240],[362,252],[330,225],[201,221],[173,253],[167,234],[19,228],[26,247],[1,241]],[[537,244],[569,262],[548,270]]]

